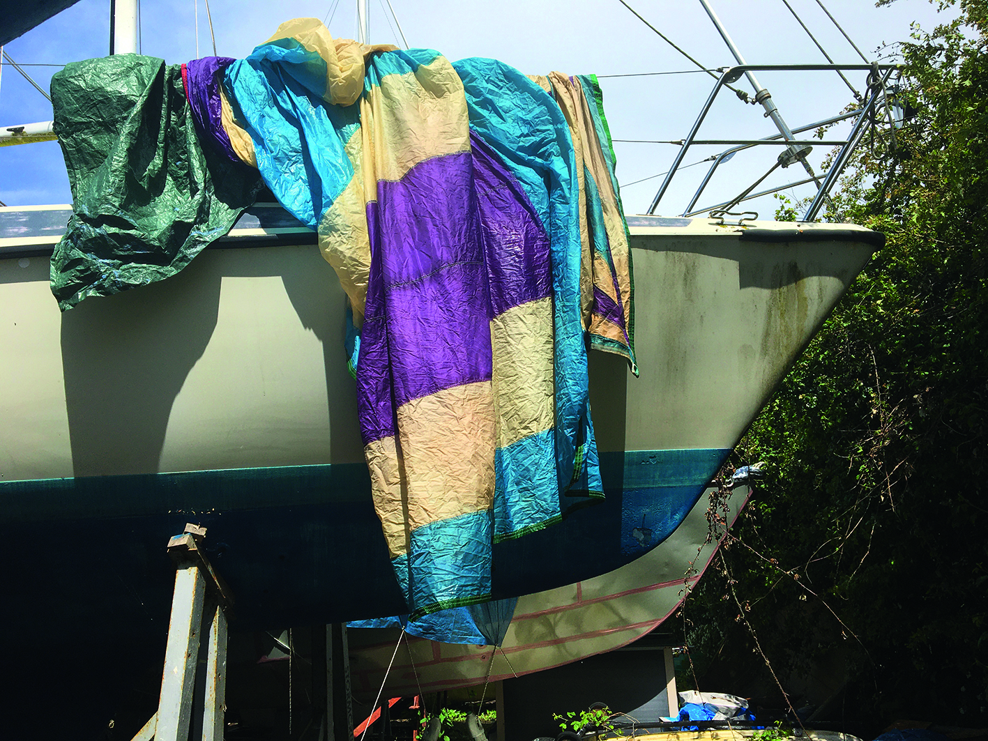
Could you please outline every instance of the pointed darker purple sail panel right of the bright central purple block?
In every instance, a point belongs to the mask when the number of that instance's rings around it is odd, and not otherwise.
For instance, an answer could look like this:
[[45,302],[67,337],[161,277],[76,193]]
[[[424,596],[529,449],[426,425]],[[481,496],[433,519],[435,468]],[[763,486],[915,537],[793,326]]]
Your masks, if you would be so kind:
[[552,293],[549,239],[521,184],[470,133],[473,177],[494,315]]

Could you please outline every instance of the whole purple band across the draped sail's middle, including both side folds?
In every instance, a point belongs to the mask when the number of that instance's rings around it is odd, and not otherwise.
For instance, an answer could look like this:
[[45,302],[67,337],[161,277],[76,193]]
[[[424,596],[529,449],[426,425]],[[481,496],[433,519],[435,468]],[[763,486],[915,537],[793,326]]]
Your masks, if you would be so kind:
[[367,206],[371,272],[357,374],[364,444],[402,404],[489,380],[490,320],[552,295],[548,235],[518,179],[479,138]]

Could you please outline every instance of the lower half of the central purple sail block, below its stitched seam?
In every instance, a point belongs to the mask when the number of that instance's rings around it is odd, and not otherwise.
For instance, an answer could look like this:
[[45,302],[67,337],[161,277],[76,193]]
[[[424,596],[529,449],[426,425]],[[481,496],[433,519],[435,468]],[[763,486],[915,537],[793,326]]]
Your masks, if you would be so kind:
[[490,379],[490,301],[484,272],[483,263],[454,263],[419,281],[387,288],[395,406]]

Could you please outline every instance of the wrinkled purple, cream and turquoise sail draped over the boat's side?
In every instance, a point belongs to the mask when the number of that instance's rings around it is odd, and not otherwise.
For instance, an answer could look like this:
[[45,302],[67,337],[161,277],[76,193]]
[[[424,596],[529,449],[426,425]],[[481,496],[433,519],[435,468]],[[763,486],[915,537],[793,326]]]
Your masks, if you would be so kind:
[[595,318],[633,362],[606,129],[583,109],[568,122],[501,62],[352,44],[288,22],[227,68],[224,92],[266,185],[318,231],[350,298],[365,456],[409,619],[437,614],[421,629],[475,639],[453,609],[489,601],[492,543],[603,496]]

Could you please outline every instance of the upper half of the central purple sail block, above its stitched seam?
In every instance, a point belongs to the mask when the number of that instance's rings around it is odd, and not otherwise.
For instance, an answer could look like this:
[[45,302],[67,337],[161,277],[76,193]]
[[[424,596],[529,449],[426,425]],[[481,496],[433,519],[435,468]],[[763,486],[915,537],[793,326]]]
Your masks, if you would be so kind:
[[377,183],[386,286],[455,263],[479,262],[469,152],[419,162],[398,181]]

